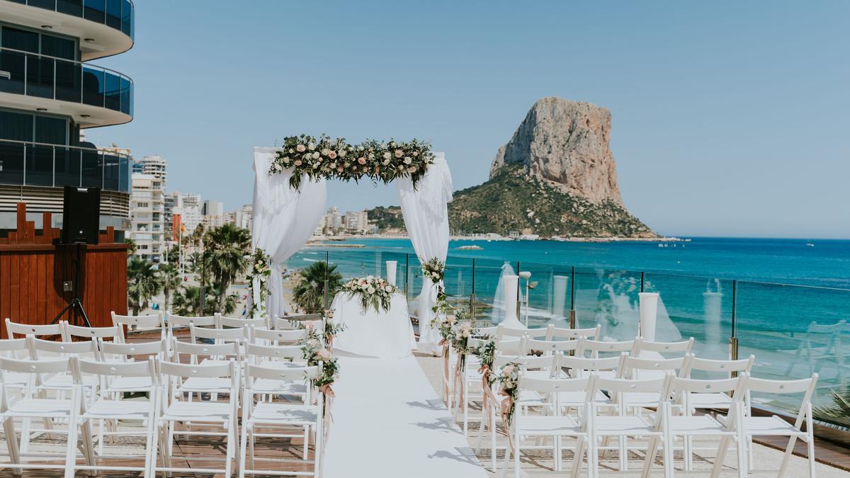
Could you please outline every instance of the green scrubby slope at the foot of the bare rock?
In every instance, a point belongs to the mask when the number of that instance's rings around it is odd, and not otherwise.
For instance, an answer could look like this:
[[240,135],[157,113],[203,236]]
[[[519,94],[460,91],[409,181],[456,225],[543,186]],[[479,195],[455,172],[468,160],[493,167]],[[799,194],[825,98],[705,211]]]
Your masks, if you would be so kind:
[[482,185],[455,193],[449,203],[453,234],[516,230],[540,236],[655,237],[626,208],[613,201],[590,202],[506,165]]

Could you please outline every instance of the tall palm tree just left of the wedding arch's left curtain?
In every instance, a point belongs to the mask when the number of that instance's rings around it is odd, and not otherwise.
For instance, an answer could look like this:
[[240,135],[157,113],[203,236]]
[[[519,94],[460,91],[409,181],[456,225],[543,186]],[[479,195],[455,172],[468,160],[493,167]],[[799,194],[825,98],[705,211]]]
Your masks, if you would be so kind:
[[218,310],[224,309],[227,290],[237,276],[248,267],[251,234],[246,229],[225,224],[204,235],[203,260],[207,274],[222,293],[218,294]]

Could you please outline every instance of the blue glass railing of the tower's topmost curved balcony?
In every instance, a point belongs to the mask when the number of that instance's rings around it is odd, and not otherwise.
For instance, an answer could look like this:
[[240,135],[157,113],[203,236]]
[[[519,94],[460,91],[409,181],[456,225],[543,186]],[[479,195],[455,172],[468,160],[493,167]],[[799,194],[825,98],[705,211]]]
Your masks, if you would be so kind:
[[133,38],[135,6],[131,0],[12,0],[39,9],[69,14],[110,26]]

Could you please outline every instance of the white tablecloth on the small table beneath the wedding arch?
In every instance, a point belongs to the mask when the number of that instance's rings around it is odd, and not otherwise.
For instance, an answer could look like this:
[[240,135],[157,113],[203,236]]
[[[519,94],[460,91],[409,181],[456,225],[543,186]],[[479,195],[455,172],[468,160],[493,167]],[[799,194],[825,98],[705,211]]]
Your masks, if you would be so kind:
[[337,293],[331,308],[334,320],[345,325],[333,339],[336,350],[360,356],[404,358],[416,349],[404,295],[393,294],[389,310],[378,313],[371,307],[364,312],[359,296],[349,299],[348,293]]

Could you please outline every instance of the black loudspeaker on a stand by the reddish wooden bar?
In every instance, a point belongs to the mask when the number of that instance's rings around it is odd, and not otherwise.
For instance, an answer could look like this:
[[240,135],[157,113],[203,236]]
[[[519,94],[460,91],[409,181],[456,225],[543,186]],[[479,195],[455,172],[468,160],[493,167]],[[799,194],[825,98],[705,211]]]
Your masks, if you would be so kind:
[[100,238],[100,188],[65,186],[63,244],[97,244]]

